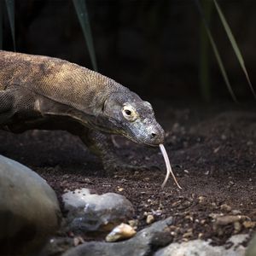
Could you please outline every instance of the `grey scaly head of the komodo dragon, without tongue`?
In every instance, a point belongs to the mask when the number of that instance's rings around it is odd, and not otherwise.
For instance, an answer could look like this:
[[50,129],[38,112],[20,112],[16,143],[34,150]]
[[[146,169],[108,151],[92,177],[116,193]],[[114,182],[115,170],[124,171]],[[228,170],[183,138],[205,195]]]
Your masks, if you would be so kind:
[[130,90],[108,96],[102,114],[108,119],[109,132],[148,146],[158,146],[164,141],[165,132],[155,120],[151,104]]

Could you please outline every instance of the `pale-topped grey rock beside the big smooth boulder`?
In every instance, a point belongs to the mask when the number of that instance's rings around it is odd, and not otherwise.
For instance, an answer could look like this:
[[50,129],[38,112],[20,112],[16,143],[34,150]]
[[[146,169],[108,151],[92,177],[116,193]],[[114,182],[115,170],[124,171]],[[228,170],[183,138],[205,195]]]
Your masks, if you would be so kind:
[[89,189],[76,189],[62,195],[62,199],[68,211],[68,229],[75,234],[110,231],[134,215],[131,202],[115,193],[96,195]]

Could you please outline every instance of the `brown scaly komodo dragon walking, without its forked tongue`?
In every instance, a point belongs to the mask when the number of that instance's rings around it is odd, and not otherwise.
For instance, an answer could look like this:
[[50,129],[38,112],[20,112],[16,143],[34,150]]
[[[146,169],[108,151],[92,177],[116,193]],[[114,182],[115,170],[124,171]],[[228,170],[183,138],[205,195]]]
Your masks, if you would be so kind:
[[113,79],[61,59],[1,50],[0,129],[69,131],[106,170],[123,165],[108,133],[148,146],[164,140],[150,103]]

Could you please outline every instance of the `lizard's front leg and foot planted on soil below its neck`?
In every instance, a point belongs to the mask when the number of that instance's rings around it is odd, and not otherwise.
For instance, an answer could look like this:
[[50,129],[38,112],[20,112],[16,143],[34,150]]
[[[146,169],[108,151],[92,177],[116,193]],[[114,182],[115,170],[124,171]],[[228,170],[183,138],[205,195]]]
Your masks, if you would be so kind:
[[102,160],[103,167],[106,171],[136,171],[146,168],[146,166],[132,166],[125,163],[124,160],[119,159],[114,152],[111,137],[100,131],[85,128],[84,132],[79,134],[79,137],[87,148],[90,149],[90,152],[96,154]]

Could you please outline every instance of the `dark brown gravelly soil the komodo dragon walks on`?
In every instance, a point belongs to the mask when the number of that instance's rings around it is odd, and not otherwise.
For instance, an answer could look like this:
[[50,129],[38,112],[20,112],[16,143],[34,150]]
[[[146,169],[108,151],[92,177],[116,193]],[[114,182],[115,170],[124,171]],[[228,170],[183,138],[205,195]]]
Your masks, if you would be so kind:
[[[117,154],[127,162],[147,165],[148,170],[104,172],[79,138],[65,131],[20,135],[0,131],[0,154],[38,172],[59,197],[64,189],[81,187],[125,195],[136,208],[139,229],[147,225],[148,213],[154,213],[156,220],[173,216],[173,241],[200,237],[224,244],[233,234],[252,234],[256,230],[255,104],[155,102],[154,106],[183,189],[177,189],[172,178],[160,189],[166,167],[159,149],[119,137]],[[228,217],[219,220],[219,213]]]

